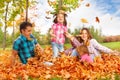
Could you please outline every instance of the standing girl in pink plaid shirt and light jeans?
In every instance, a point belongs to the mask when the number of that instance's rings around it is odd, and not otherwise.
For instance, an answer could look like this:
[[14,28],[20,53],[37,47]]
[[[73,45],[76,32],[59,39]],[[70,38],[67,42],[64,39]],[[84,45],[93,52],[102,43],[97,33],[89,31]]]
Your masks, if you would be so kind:
[[67,32],[67,21],[65,13],[58,13],[50,30],[53,57],[58,57],[59,52],[64,51],[65,32]]

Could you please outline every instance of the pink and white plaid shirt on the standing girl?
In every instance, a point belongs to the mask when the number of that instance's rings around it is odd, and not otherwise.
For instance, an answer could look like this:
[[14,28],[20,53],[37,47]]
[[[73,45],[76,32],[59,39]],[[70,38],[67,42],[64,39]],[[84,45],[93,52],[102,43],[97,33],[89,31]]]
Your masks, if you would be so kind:
[[63,26],[60,23],[52,25],[53,33],[56,35],[56,38],[52,38],[52,42],[56,42],[58,44],[65,43],[65,35],[64,33],[67,31],[67,27]]

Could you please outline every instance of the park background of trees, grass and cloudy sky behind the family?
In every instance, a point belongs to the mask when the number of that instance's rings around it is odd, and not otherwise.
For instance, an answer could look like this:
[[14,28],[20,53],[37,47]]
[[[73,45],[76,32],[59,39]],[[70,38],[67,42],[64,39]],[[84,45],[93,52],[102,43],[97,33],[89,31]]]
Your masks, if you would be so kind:
[[[44,49],[51,46],[49,29],[53,15],[60,9],[68,15],[71,34],[78,35],[81,28],[88,27],[98,42],[120,51],[120,0],[0,0],[0,7],[1,60],[6,59],[2,54],[11,53],[13,41],[20,35],[19,24],[23,21],[33,24],[33,35]],[[68,39],[65,47],[71,47]],[[119,75],[115,77],[115,80],[120,79]]]

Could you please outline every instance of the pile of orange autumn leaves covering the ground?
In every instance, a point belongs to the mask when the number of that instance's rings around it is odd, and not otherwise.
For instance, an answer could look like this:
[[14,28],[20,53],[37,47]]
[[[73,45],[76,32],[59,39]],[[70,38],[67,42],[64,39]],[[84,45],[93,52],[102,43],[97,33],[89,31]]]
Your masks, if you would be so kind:
[[[11,64],[11,52],[0,51],[0,80],[28,80],[29,77],[40,80],[53,77],[63,80],[98,80],[109,77],[114,80],[114,74],[120,75],[120,56],[103,53],[102,59],[97,57],[94,63],[81,63],[78,58],[64,53],[61,57],[52,58],[51,47],[46,47],[42,53],[38,52],[39,55],[28,59],[28,63],[24,65],[19,60]],[[46,62],[52,65],[45,64]]]

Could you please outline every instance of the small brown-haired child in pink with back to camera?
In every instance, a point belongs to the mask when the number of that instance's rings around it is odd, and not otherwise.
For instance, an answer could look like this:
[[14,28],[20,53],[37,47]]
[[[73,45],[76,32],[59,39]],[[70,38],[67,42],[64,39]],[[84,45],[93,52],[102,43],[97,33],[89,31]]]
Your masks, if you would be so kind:
[[76,48],[76,50],[77,50],[77,52],[79,53],[79,55],[81,57],[80,61],[86,61],[88,63],[93,62],[93,60],[89,56],[89,51],[88,51],[88,49],[87,49],[87,47],[85,45],[78,46]]

